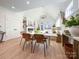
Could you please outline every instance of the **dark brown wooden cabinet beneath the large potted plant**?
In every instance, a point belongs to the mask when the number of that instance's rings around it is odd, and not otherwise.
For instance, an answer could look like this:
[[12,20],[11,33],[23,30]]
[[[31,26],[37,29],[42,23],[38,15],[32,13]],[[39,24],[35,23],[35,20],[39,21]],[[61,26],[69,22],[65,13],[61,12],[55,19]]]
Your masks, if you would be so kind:
[[[73,44],[69,40],[73,40]],[[79,59],[79,39],[71,37],[69,35],[62,35],[62,46],[65,49],[65,54],[69,59]]]

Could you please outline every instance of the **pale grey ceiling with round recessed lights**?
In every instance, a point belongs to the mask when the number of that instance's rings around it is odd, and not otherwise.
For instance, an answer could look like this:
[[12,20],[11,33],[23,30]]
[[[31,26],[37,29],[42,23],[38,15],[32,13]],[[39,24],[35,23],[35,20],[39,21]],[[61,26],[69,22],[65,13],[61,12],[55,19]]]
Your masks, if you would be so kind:
[[[30,1],[29,5],[27,5],[27,1]],[[71,0],[0,0],[0,6],[16,12],[48,5],[64,10],[70,1]],[[12,6],[15,8],[12,9]]]

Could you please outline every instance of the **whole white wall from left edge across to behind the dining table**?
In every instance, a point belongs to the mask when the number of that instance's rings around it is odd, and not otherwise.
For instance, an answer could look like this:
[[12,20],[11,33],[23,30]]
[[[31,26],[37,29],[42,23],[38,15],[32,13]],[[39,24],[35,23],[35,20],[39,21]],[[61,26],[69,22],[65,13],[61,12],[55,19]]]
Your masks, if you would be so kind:
[[[0,25],[2,26],[1,30],[6,32],[4,41],[20,36],[20,32],[23,30],[22,21],[24,16],[27,17],[28,22],[35,21],[36,27],[40,22],[44,22],[52,26],[52,24],[55,23],[55,19],[53,17],[56,16],[53,14],[52,11],[54,10],[54,8],[52,8],[46,6],[43,8],[40,7],[16,13],[0,7]],[[40,17],[42,15],[46,15],[47,19],[41,19]]]

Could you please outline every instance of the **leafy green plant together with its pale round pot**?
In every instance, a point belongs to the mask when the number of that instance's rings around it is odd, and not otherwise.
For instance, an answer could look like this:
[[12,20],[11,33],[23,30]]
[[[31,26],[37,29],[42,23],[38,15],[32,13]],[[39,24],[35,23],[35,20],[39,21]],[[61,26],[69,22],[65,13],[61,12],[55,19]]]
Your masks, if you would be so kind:
[[79,14],[76,16],[71,16],[69,20],[65,20],[64,24],[69,27],[71,36],[79,36]]

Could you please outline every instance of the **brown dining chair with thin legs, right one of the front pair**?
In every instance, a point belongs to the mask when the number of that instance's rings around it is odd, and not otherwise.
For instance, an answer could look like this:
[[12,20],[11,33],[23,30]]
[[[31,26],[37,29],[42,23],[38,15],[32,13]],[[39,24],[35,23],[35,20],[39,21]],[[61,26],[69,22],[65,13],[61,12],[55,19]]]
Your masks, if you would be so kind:
[[46,42],[45,36],[42,35],[42,34],[34,34],[33,39],[36,40],[36,41],[35,41],[35,44],[34,44],[33,53],[34,53],[34,50],[35,50],[36,43],[42,43],[42,44],[44,44],[44,56],[46,56],[46,46],[47,46],[47,42]]

